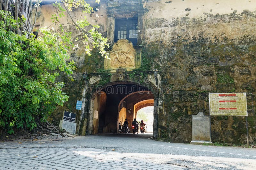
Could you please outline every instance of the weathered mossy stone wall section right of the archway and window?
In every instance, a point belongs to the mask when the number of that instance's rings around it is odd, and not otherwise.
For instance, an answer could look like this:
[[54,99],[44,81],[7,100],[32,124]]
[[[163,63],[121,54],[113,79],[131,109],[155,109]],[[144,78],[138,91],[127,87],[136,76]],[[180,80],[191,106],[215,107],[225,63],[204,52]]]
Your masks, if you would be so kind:
[[[171,2],[171,3],[169,3]],[[255,4],[254,4],[255,5]],[[191,141],[191,116],[209,114],[209,92],[254,92],[256,12],[250,1],[168,1],[148,4],[144,36],[148,54],[160,65],[159,136]],[[255,115],[247,95],[250,142]],[[214,142],[245,143],[245,117],[212,116]]]

